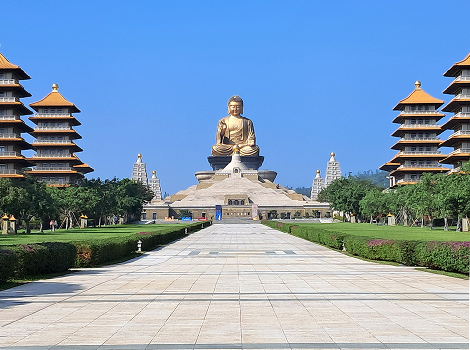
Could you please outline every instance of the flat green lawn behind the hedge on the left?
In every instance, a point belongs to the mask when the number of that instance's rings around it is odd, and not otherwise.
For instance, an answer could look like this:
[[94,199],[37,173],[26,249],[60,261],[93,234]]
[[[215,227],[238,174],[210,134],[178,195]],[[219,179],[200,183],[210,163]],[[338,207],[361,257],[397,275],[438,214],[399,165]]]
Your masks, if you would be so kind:
[[70,242],[85,241],[94,238],[107,238],[125,236],[138,232],[154,231],[162,228],[188,226],[188,224],[155,224],[155,225],[112,225],[101,228],[56,230],[55,232],[46,231],[44,233],[0,235],[1,245],[13,244],[32,244],[43,242]]

